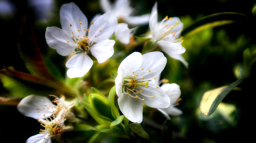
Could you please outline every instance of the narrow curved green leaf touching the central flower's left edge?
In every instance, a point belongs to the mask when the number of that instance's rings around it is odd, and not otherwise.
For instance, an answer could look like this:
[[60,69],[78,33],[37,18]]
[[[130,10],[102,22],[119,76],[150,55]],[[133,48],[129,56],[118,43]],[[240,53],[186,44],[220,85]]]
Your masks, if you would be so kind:
[[109,93],[109,102],[110,102],[111,113],[112,113],[112,116],[116,119],[117,117],[120,116],[120,114],[115,106],[115,94],[116,94],[116,86],[111,88],[110,93]]

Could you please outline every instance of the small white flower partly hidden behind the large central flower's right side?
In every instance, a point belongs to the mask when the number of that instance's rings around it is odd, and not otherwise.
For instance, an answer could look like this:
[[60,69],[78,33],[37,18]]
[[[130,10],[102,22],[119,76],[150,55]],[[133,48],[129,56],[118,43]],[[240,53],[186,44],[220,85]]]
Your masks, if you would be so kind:
[[170,98],[170,105],[167,108],[158,108],[159,111],[163,113],[163,115],[167,118],[170,119],[168,115],[172,116],[179,116],[182,114],[182,110],[174,107],[175,105],[178,104],[178,101],[181,99],[180,98],[180,88],[179,85],[176,83],[164,83],[160,87]]

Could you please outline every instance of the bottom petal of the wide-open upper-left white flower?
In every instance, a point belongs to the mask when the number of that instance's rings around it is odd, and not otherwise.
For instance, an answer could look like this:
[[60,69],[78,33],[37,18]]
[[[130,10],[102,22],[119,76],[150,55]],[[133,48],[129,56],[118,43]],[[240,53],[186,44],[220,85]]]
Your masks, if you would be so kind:
[[82,77],[93,66],[93,61],[88,55],[84,55],[83,52],[73,55],[66,63],[66,67],[69,68],[67,75],[69,78]]

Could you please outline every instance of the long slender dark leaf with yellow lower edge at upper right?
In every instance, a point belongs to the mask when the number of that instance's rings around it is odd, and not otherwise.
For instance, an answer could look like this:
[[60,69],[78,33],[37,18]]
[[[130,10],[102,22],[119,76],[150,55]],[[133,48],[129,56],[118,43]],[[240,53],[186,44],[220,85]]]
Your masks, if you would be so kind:
[[181,35],[191,36],[199,31],[205,30],[206,28],[230,24],[238,20],[245,20],[246,18],[246,15],[234,12],[222,12],[211,14],[199,19],[195,23],[185,28],[182,31]]

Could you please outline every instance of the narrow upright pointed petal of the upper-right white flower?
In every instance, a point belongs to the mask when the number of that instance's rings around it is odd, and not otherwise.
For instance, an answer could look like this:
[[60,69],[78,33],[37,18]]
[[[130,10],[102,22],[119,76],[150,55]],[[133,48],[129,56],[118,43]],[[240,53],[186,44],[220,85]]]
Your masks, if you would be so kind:
[[157,37],[156,37],[156,33],[157,33],[156,30],[157,30],[157,25],[158,25],[158,22],[157,22],[158,16],[157,15],[158,15],[158,13],[157,13],[157,2],[156,2],[152,8],[152,12],[150,15],[150,31],[151,31],[154,41],[157,40]]

